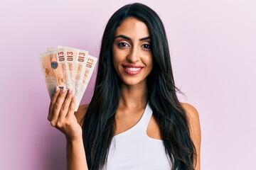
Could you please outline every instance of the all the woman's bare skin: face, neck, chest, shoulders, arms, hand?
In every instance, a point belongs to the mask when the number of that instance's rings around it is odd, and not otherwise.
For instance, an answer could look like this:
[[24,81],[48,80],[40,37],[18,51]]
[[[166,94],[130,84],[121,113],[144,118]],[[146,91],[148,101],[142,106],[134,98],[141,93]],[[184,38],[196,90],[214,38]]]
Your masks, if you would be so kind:
[[[136,18],[127,18],[117,28],[112,45],[113,64],[122,79],[119,106],[115,115],[115,135],[132,128],[142,117],[147,103],[146,77],[153,67],[149,30],[145,23]],[[138,74],[128,74],[125,66],[139,66]],[[191,138],[197,151],[196,170],[200,170],[201,128],[198,111],[187,103],[181,103],[188,115]],[[72,91],[56,89],[50,102],[48,120],[63,132],[67,138],[68,169],[87,169],[84,147],[82,145],[82,123],[88,105],[74,112],[75,96]],[[159,125],[154,116],[149,121],[146,134],[161,140]]]

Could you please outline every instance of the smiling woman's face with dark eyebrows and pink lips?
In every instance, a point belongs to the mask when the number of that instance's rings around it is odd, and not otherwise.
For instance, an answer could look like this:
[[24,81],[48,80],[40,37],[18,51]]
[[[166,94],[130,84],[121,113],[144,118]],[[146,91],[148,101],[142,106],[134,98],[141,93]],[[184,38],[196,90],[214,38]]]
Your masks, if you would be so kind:
[[112,45],[114,69],[123,84],[146,84],[153,68],[149,30],[137,18],[127,18],[117,28]]

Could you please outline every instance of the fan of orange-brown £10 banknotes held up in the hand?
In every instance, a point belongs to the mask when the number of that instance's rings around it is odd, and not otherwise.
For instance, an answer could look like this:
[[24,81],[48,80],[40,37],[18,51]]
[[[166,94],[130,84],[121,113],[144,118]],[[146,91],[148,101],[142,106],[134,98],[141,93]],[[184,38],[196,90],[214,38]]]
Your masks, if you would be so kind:
[[39,54],[49,96],[53,95],[55,86],[73,89],[75,111],[78,111],[97,63],[97,58],[88,53],[87,50],[58,46],[48,47],[47,52]]

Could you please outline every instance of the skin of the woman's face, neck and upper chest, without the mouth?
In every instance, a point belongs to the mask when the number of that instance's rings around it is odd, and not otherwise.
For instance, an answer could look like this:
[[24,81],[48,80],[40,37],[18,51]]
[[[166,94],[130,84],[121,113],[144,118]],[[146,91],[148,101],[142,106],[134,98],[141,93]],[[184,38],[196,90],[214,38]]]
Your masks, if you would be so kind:
[[[114,68],[122,79],[115,123],[119,134],[134,126],[147,103],[146,77],[153,68],[149,30],[145,23],[127,18],[117,28],[112,45]],[[124,66],[142,67],[139,74],[127,74]]]

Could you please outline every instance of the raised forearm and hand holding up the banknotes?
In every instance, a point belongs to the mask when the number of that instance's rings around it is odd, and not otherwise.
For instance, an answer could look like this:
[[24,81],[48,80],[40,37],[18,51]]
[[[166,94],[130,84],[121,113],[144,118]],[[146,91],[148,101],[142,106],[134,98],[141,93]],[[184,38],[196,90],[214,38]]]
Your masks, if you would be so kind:
[[82,128],[75,116],[75,95],[72,90],[56,87],[50,101],[48,120],[50,125],[66,136],[67,169],[87,170],[85,149],[82,143]]

